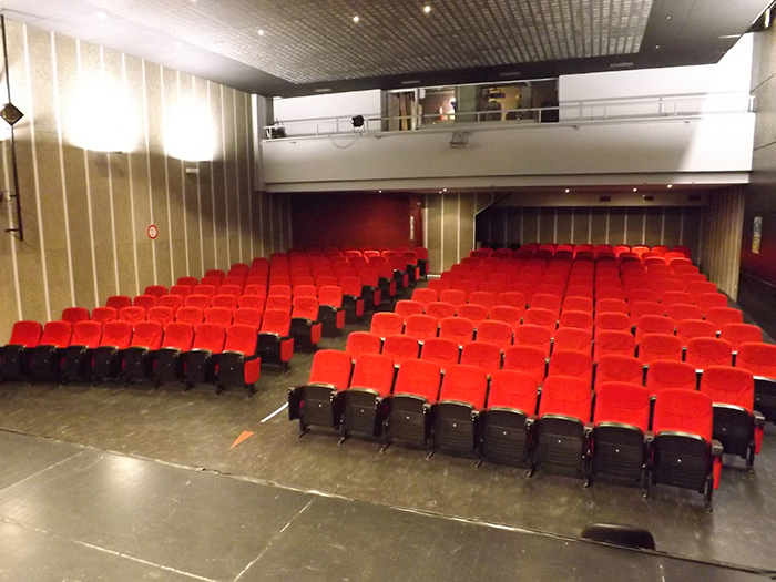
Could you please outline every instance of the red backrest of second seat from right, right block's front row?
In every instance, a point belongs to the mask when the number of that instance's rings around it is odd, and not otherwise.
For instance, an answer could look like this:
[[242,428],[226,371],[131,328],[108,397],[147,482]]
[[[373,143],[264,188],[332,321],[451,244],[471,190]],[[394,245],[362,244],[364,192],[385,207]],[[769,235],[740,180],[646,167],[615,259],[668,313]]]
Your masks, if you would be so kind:
[[646,433],[650,428],[650,392],[639,384],[605,381],[595,388],[593,425],[617,422],[639,428]]

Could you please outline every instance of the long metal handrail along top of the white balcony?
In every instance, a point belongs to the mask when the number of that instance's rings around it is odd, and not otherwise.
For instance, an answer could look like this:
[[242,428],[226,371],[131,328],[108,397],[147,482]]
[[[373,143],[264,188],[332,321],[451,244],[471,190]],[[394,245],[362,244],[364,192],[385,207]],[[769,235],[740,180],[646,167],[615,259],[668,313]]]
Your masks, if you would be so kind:
[[[277,121],[273,125],[265,125],[263,129],[267,137],[297,139],[347,135],[354,132],[357,134],[422,132],[442,127],[460,131],[462,129],[496,129],[494,125],[498,125],[501,129],[502,125],[513,127],[515,122],[520,122],[524,126],[525,122],[530,121],[561,123],[649,121],[752,112],[754,112],[754,95],[745,92],[685,93],[646,98],[591,99],[566,101],[553,106],[482,110],[441,115],[435,113],[386,118],[364,116],[364,125],[359,127],[353,125],[353,116],[343,115],[284,120]],[[409,125],[412,129],[390,129],[391,124],[398,123]]]

